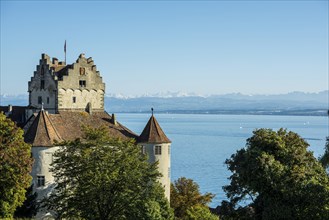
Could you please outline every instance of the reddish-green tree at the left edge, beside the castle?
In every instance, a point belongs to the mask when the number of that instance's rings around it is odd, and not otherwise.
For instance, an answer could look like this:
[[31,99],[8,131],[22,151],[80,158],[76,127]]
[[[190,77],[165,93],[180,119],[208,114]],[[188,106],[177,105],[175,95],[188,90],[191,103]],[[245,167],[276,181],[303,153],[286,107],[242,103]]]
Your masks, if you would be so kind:
[[0,113],[0,218],[12,218],[31,184],[31,146],[23,130]]

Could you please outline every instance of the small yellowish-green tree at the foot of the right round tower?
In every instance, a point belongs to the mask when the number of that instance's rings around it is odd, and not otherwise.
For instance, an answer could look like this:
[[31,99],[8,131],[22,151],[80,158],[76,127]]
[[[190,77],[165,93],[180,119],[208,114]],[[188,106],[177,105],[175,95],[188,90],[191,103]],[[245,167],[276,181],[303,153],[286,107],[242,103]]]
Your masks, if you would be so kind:
[[207,205],[214,196],[211,193],[202,195],[196,182],[181,177],[171,184],[170,206],[174,209],[176,219],[190,219],[192,215],[201,212],[208,212],[211,215]]

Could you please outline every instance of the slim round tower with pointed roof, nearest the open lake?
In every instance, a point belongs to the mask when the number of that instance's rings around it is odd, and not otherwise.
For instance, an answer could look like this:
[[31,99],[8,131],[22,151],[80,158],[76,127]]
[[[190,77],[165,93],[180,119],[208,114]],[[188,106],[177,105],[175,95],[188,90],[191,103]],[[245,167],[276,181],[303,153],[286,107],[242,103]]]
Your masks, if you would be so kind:
[[171,141],[161,129],[153,115],[139,136],[142,152],[148,155],[149,162],[159,162],[158,170],[162,174],[159,182],[164,186],[165,196],[170,201],[170,145]]

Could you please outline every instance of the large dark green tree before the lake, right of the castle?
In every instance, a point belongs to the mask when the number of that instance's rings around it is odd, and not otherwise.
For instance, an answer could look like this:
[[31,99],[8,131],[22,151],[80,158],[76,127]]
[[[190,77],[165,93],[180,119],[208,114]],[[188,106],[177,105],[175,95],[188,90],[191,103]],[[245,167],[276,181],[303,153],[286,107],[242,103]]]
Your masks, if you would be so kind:
[[329,179],[307,147],[294,132],[254,131],[246,147],[225,162],[233,174],[224,187],[230,202],[222,208],[250,204],[223,219],[329,219]]

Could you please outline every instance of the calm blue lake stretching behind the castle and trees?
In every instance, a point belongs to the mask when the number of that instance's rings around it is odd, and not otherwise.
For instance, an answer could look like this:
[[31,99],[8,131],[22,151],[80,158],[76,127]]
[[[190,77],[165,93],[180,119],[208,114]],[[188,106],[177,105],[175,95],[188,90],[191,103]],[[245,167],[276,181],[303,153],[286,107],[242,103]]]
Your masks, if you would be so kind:
[[[150,114],[117,114],[117,120],[140,134]],[[210,204],[216,207],[226,199],[222,190],[231,173],[224,161],[246,144],[256,128],[287,128],[310,144],[319,157],[329,136],[328,117],[268,115],[155,114],[172,141],[171,181],[179,177],[193,179],[202,193],[216,194]]]

